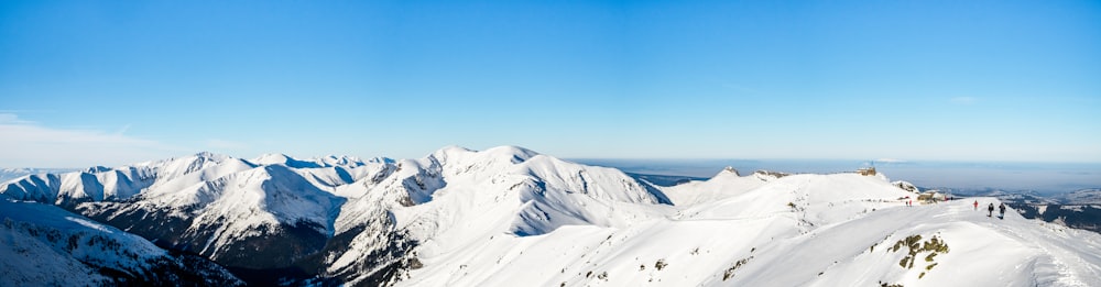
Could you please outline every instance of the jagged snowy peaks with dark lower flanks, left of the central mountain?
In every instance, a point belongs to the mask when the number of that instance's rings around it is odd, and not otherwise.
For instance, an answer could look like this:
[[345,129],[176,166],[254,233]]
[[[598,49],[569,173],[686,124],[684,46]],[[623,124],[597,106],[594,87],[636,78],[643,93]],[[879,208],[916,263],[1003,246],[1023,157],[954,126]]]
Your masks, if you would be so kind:
[[283,268],[333,236],[334,219],[346,201],[335,188],[388,162],[282,155],[249,161],[200,153],[26,176],[0,192],[55,203],[230,268]]

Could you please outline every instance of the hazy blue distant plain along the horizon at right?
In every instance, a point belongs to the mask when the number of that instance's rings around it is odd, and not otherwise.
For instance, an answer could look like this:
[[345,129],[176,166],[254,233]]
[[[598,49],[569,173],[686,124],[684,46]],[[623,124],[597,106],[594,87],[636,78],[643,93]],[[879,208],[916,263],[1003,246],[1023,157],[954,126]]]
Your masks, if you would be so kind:
[[875,166],[892,180],[923,188],[950,190],[1036,191],[1055,195],[1101,188],[1101,164],[1013,162],[873,162],[849,159],[599,159],[571,161],[608,166],[626,173],[711,177],[730,166],[742,175],[754,170],[783,173],[844,173]]

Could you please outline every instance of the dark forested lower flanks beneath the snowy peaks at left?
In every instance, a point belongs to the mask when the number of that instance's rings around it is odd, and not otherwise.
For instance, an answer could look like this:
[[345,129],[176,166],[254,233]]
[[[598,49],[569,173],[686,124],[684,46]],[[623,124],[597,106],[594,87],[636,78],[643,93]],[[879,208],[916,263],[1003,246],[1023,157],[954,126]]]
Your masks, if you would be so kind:
[[[249,285],[380,286],[399,280],[419,265],[411,251],[417,243],[396,230],[391,217],[380,213],[368,222],[331,238],[318,232],[314,222],[262,225],[259,235],[235,239],[215,251],[205,249],[221,219],[189,229],[193,219],[170,216],[168,210],[148,210],[126,202],[89,202],[77,212],[94,220],[141,235],[163,249],[196,260],[214,258]],[[177,210],[188,213],[188,210]],[[349,252],[352,241],[367,241],[364,256],[345,268],[328,272],[333,261]],[[210,263],[214,264],[214,263]],[[154,284],[156,285],[156,284]]]

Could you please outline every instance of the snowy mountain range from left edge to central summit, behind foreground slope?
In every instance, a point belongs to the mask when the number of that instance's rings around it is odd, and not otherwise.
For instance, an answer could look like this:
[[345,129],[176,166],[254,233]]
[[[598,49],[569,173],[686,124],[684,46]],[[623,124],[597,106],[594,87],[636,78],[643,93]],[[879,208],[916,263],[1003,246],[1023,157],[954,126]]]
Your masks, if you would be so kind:
[[200,153],[28,176],[0,194],[66,207],[231,268],[294,267],[304,277],[287,280],[359,284],[391,280],[419,264],[414,247],[422,243],[459,249],[486,232],[622,227],[671,208],[664,194],[620,170],[514,146],[368,162]]

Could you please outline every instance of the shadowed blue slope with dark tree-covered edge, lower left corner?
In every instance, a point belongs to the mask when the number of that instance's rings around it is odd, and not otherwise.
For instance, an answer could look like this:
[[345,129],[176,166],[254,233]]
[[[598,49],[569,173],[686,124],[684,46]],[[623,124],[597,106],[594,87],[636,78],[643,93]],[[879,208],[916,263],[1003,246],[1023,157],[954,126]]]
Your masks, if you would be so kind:
[[217,264],[57,207],[0,200],[0,286],[241,285]]

